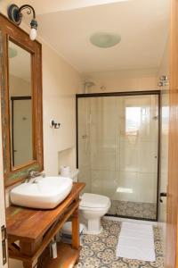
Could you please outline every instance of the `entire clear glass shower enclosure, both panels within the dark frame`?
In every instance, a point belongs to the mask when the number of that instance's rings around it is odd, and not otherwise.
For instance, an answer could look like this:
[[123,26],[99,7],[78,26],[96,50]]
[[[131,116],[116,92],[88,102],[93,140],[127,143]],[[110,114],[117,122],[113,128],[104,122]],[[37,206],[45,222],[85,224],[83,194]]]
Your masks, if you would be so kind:
[[158,119],[158,95],[77,98],[79,181],[109,214],[157,220]]

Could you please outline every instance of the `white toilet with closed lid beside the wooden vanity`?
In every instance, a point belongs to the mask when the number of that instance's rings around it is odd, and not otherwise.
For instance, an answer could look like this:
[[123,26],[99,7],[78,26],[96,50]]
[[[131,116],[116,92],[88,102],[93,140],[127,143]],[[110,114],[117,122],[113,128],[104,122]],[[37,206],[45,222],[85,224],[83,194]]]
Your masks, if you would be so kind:
[[101,233],[101,217],[109,211],[109,197],[85,193],[80,198],[79,212],[86,226],[85,234]]

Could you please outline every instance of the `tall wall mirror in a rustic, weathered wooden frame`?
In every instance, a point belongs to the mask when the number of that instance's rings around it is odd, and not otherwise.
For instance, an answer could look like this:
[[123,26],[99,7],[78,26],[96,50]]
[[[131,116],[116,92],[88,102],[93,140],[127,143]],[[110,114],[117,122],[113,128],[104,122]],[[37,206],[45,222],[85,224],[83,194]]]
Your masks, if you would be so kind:
[[0,14],[4,184],[43,170],[41,44]]

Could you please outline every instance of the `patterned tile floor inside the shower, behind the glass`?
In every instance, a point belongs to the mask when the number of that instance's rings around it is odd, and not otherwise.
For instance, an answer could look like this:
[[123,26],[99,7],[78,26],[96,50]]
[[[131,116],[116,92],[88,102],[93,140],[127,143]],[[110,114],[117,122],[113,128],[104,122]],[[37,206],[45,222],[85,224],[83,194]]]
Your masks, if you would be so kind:
[[112,200],[108,214],[155,220],[157,204]]

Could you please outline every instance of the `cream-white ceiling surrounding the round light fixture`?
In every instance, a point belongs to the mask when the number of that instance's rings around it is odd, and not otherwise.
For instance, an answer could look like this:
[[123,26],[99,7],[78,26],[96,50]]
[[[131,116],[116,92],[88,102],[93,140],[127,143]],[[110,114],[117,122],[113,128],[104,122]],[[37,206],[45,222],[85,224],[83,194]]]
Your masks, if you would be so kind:
[[[168,38],[170,0],[96,0],[96,5],[90,0],[92,6],[83,0],[85,7],[81,0],[55,0],[51,8],[43,2],[28,1],[40,13],[38,34],[78,71],[158,68]],[[120,34],[122,41],[110,48],[93,46],[89,39],[97,31]]]

